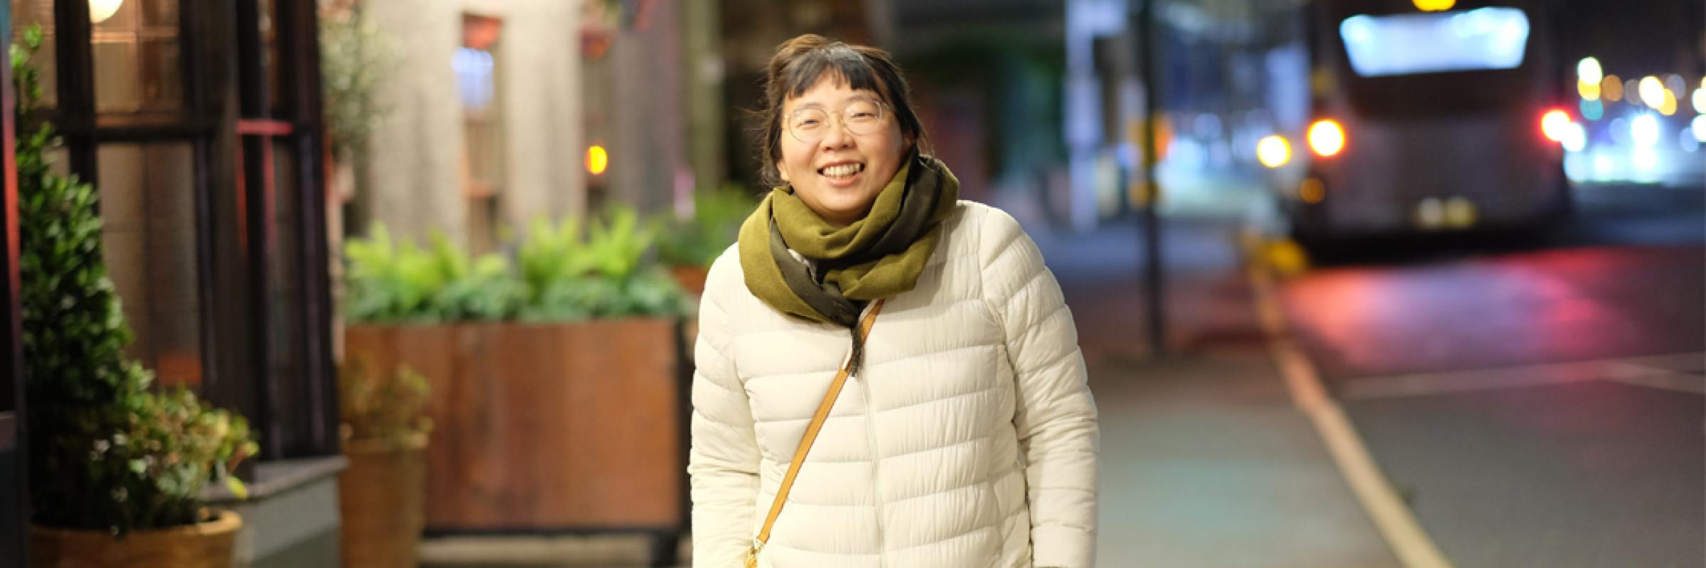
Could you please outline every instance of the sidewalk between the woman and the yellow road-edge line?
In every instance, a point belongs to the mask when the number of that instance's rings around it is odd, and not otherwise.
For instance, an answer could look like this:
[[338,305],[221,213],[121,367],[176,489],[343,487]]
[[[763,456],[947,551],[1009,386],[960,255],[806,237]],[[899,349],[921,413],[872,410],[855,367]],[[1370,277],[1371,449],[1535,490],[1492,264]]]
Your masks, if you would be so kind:
[[1100,566],[1401,566],[1293,406],[1235,220],[1163,225],[1169,353],[1150,356],[1138,229],[1037,235],[1102,416]]

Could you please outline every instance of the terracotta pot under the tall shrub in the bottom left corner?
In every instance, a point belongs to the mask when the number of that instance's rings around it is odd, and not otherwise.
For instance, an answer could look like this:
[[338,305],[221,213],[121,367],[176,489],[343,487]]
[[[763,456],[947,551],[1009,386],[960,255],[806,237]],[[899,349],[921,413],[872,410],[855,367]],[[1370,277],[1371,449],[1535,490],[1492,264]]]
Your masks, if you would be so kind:
[[159,530],[131,530],[114,539],[106,530],[29,527],[34,568],[230,568],[242,517],[220,512],[213,520]]

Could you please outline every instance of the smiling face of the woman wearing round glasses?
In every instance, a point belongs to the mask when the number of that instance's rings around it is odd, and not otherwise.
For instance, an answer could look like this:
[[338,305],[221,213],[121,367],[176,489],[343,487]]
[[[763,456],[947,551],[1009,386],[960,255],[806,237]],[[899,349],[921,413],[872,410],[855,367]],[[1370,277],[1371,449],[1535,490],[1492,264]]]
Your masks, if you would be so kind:
[[[810,109],[822,114],[800,113]],[[848,128],[850,121],[870,121],[870,116],[858,114],[868,109],[880,113],[879,123]],[[901,136],[899,121],[892,114],[877,92],[855,90],[824,73],[804,94],[783,101],[781,160],[776,162],[781,181],[793,184],[800,201],[831,225],[846,227],[865,218],[877,193],[901,169],[901,157],[909,143]],[[853,133],[855,130],[865,133]],[[814,136],[817,140],[800,142]]]

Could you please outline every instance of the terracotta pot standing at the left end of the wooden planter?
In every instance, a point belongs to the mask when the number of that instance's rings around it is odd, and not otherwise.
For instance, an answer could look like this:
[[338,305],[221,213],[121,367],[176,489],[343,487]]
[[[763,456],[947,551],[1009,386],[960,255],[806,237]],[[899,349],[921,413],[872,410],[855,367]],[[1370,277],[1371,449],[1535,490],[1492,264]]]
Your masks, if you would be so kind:
[[415,568],[426,524],[426,435],[345,440],[350,467],[338,476],[343,565]]

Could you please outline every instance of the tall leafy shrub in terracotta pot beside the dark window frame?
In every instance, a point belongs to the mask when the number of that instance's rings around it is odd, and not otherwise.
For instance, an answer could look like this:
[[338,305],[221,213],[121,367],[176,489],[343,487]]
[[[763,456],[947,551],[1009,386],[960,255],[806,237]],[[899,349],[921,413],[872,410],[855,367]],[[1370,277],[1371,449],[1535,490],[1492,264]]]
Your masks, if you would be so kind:
[[258,445],[242,416],[186,389],[154,392],[125,356],[131,333],[101,251],[96,188],[53,174],[53,130],[27,111],[41,97],[31,55],[12,46],[19,94],[19,273],[29,396],[31,563],[46,566],[230,566],[242,520],[210,512],[205,483],[225,481]]

